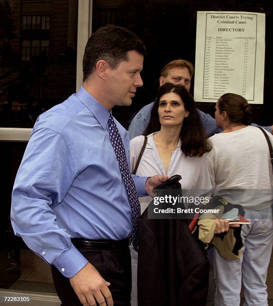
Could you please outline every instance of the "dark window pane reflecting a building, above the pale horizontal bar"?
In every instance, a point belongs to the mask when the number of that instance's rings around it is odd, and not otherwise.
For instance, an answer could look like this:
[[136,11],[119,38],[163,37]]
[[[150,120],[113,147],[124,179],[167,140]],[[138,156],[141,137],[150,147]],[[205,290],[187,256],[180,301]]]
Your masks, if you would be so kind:
[[[0,127],[31,128],[39,114],[75,91],[78,1],[5,2]],[[52,20],[61,22],[52,26]]]

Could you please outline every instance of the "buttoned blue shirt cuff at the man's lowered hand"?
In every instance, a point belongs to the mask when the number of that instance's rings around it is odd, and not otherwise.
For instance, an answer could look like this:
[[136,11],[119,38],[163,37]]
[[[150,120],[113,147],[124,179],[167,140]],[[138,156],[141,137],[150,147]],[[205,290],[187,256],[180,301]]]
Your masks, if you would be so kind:
[[76,249],[75,246],[72,246],[61,253],[58,259],[54,262],[54,265],[63,276],[72,277],[87,263],[88,260]]

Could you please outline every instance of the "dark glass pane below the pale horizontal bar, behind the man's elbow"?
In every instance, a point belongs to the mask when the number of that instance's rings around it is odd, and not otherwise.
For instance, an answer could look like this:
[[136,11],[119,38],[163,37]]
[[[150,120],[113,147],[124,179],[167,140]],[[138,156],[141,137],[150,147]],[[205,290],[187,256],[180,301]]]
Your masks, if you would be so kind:
[[10,223],[11,190],[26,144],[0,141],[1,174],[5,178],[0,215],[0,288],[55,293],[50,266],[14,236]]

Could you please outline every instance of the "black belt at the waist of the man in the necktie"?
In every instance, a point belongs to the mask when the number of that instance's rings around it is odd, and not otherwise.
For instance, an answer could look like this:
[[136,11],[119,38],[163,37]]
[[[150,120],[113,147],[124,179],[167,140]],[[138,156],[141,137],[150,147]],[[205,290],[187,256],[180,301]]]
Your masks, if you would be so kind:
[[72,238],[71,241],[75,247],[115,249],[128,247],[131,243],[131,237],[123,240],[89,240],[85,238]]

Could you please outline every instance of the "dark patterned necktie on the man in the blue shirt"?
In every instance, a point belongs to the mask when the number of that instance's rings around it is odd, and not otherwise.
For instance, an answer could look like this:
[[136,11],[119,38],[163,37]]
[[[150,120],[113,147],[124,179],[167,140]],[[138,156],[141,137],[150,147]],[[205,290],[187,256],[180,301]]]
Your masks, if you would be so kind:
[[114,122],[112,115],[110,114],[108,120],[108,128],[110,134],[110,140],[114,148],[115,154],[117,156],[119,169],[128,193],[128,198],[132,210],[132,224],[133,224],[133,234],[132,234],[132,243],[134,248],[138,249],[138,219],[140,217],[140,203],[137,198],[136,187],[128,167],[125,148],[117,129],[117,126]]

